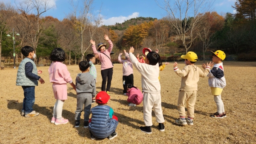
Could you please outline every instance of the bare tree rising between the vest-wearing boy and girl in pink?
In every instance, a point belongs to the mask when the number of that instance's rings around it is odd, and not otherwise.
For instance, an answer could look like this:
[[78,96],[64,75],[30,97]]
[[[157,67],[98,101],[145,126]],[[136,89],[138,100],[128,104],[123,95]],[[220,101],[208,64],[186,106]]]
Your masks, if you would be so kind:
[[49,2],[50,0],[23,0],[17,4],[15,1],[17,9],[26,18],[27,40],[32,44],[35,53],[39,37],[45,30],[45,27],[43,26],[44,21],[41,20],[41,15],[54,7],[49,6]]

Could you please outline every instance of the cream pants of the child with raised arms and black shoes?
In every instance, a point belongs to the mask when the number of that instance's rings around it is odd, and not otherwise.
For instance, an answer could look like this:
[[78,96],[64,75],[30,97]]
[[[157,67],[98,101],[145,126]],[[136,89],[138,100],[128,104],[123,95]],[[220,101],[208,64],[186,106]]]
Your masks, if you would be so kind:
[[143,118],[145,126],[152,126],[152,108],[154,109],[157,123],[163,123],[163,111],[161,105],[161,94],[144,92],[143,96]]

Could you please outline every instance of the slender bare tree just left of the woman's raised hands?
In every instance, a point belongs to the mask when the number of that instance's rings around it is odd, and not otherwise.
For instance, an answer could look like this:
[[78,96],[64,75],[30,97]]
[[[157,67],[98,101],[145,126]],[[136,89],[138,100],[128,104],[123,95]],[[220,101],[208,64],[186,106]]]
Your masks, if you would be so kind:
[[[71,5],[73,6],[73,12],[68,16],[73,22],[73,25],[80,35],[81,40],[81,60],[84,59],[84,53],[90,47],[90,39],[93,39],[93,35],[96,32],[98,26],[102,23],[102,17],[99,15],[94,15],[92,13],[92,5],[94,0],[77,0],[77,5],[71,0]],[[90,39],[84,39],[84,31],[89,31]],[[87,45],[87,46],[84,46]]]

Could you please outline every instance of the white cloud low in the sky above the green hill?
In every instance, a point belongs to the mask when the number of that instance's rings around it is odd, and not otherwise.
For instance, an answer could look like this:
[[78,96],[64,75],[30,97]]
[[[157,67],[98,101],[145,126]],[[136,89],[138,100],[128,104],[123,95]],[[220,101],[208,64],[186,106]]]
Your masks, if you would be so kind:
[[139,12],[134,12],[131,15],[129,15],[128,17],[124,17],[124,16],[119,16],[119,17],[111,17],[109,19],[103,19],[103,25],[109,26],[109,25],[114,25],[116,23],[123,23],[125,22],[125,20],[130,20],[131,18],[136,18],[139,16]]

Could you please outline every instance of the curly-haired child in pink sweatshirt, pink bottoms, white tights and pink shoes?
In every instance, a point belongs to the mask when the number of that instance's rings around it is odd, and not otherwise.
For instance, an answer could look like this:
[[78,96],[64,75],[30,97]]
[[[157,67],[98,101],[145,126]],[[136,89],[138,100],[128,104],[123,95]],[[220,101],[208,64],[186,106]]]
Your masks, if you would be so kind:
[[62,62],[65,60],[65,52],[61,48],[55,48],[50,55],[52,64],[48,72],[50,82],[52,83],[52,90],[56,102],[53,107],[53,117],[51,123],[55,125],[67,124],[68,120],[62,118],[62,108],[64,101],[67,99],[67,83],[76,90],[76,85],[73,83],[70,73],[67,71],[67,66]]

